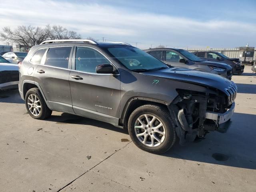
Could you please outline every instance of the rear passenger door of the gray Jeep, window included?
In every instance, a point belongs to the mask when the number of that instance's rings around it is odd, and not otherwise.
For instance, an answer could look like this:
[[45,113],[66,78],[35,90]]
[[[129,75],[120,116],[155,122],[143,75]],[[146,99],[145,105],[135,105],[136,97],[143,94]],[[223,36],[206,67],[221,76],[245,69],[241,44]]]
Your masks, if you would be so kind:
[[34,81],[38,82],[46,100],[55,110],[74,113],[70,94],[69,74],[72,46],[50,47],[38,64]]

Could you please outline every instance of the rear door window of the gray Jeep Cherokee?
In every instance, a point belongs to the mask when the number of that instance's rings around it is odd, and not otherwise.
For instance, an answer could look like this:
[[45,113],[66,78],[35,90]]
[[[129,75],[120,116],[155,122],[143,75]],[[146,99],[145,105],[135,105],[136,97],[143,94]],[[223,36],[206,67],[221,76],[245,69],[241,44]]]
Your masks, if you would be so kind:
[[71,47],[52,47],[46,54],[45,65],[68,68]]

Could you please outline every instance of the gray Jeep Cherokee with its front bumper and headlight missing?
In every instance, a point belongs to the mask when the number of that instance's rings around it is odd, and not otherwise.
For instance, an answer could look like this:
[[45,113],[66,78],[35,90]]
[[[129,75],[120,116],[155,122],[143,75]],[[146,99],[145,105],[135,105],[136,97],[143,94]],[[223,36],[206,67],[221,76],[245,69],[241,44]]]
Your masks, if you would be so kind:
[[20,67],[19,91],[32,118],[52,110],[128,128],[152,153],[225,132],[234,112],[234,82],[169,67],[122,42],[48,40],[31,48]]

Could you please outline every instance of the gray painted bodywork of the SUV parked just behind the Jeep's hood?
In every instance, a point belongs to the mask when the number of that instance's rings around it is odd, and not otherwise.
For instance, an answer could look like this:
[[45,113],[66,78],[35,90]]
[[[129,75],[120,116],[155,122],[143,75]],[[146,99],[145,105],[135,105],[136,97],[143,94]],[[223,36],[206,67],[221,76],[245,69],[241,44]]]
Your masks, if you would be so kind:
[[[169,64],[171,66],[174,67],[180,67],[180,68],[187,68],[187,69],[192,69],[192,70],[199,70],[199,71],[203,71],[203,72],[209,72],[209,73],[213,73],[213,74],[218,74],[220,76],[224,76],[225,78],[231,79],[232,78],[232,74],[228,76],[227,74],[227,70],[231,70],[232,67],[230,65],[227,64],[222,64],[222,63],[218,63],[218,62],[195,62],[192,60],[189,60],[186,56],[184,56],[183,54],[181,54],[179,52],[179,50],[181,49],[174,49],[174,48],[156,48],[156,49],[149,49],[149,50],[145,50],[145,52],[152,52],[152,51],[163,51],[164,56],[162,57],[162,62]],[[176,54],[180,55],[182,58],[186,59],[186,63],[181,63],[181,62],[170,62],[170,61],[166,61],[165,59],[165,52],[166,51],[172,51],[175,52]],[[199,59],[199,58],[198,58]],[[215,70],[212,70],[210,68],[210,66],[212,67],[218,67],[218,68],[223,68],[225,69],[224,72],[218,72]]]

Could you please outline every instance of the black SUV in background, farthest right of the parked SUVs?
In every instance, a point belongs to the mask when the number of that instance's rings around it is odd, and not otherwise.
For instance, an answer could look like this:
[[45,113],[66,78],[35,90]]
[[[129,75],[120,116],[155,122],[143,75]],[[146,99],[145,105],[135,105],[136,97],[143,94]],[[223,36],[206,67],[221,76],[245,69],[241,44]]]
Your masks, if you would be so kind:
[[224,54],[213,51],[198,51],[193,52],[196,56],[206,61],[219,62],[231,65],[233,73],[242,74],[244,72],[244,65],[241,64],[238,58],[228,58]]

